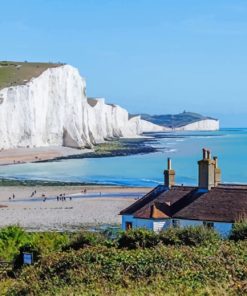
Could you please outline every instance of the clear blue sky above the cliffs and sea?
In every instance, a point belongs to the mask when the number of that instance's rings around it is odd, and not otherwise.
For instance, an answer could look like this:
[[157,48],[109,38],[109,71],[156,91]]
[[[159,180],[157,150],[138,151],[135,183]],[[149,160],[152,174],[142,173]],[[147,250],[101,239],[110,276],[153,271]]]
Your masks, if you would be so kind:
[[132,113],[247,127],[246,0],[2,1],[0,36],[0,59],[70,63]]

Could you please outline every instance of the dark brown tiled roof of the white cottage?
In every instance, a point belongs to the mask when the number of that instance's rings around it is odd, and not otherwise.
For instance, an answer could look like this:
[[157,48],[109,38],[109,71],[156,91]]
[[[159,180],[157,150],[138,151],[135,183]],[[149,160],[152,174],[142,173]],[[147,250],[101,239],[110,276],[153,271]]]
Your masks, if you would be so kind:
[[234,222],[247,215],[247,185],[221,184],[209,191],[198,187],[157,186],[120,212],[135,218],[181,218]]

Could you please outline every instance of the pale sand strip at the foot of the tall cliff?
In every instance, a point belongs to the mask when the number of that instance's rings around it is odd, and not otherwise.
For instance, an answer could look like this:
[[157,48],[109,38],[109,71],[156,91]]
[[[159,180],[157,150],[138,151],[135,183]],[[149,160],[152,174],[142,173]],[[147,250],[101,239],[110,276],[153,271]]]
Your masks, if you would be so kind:
[[57,157],[67,157],[92,151],[90,149],[74,149],[63,146],[0,150],[0,165],[52,160]]

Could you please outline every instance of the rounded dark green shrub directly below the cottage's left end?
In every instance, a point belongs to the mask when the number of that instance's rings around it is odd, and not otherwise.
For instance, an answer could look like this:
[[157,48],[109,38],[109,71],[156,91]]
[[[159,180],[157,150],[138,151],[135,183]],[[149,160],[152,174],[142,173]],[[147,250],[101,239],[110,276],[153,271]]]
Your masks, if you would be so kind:
[[159,235],[146,229],[132,229],[120,234],[117,239],[119,248],[152,248],[160,242]]

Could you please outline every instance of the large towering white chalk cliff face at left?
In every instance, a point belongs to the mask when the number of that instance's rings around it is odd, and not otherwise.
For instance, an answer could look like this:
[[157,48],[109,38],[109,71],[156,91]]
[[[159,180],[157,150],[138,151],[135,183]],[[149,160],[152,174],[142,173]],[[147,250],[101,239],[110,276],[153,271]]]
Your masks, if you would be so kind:
[[69,65],[49,68],[24,85],[0,90],[0,149],[64,145],[91,147],[161,127],[104,99],[87,100],[86,83]]

